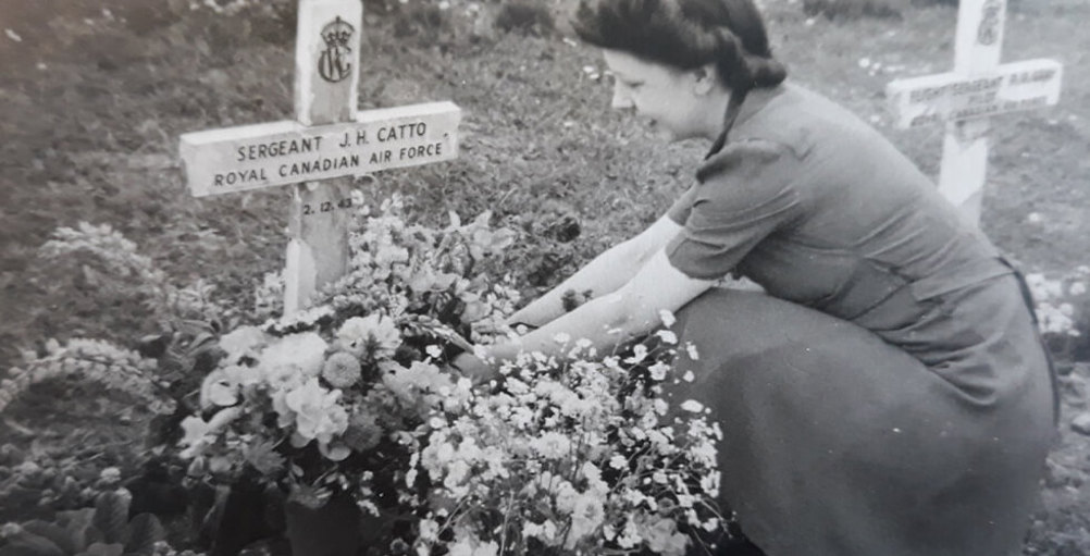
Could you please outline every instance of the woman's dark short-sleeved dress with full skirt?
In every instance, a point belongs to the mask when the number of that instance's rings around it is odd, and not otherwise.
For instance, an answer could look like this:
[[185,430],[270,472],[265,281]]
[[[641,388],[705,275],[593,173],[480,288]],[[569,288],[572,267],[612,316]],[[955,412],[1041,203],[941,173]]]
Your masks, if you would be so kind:
[[[752,110],[752,109],[751,109]],[[1019,554],[1054,434],[1013,270],[865,123],[782,86],[669,210],[667,255],[767,295],[679,313],[725,433],[724,500],[770,556]]]

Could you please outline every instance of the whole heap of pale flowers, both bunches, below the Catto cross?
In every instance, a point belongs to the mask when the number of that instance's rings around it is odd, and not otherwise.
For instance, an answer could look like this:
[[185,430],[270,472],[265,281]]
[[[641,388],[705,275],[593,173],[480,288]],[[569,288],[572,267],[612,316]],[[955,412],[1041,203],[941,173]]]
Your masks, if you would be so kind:
[[446,366],[512,334],[518,293],[497,277],[517,238],[487,218],[435,230],[386,203],[314,309],[222,335],[181,422],[190,475],[348,496],[393,523],[371,535],[379,554],[680,555],[719,531],[718,431],[664,400],[683,379],[668,329],[610,356],[557,338],[565,356],[523,354],[484,385]]

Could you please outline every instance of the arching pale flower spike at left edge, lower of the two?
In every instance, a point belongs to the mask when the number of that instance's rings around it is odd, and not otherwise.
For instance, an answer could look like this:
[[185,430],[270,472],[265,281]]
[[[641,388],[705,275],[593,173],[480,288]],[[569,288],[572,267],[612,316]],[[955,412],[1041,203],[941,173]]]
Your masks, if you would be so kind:
[[135,351],[101,340],[75,338],[62,346],[50,339],[45,355],[26,351],[23,359],[22,367],[10,368],[8,377],[0,380],[0,412],[32,385],[61,376],[96,382],[136,396],[155,413],[173,411],[170,402],[159,396],[161,385],[156,384],[152,373],[155,361]]

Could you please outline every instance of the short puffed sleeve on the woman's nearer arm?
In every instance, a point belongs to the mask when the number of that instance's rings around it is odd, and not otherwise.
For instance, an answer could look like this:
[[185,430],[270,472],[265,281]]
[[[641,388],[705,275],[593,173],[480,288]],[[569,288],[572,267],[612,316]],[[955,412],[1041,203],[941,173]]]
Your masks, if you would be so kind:
[[700,183],[667,213],[683,228],[667,244],[666,255],[692,278],[723,278],[801,210],[798,158],[778,143],[731,143],[697,177]]

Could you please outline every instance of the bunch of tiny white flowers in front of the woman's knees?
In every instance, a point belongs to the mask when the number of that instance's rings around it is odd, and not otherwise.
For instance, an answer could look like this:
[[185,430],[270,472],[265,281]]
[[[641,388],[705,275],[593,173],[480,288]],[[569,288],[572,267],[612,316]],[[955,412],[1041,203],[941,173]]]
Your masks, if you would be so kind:
[[659,338],[667,349],[604,361],[559,338],[566,358],[522,353],[501,367],[500,391],[433,411],[412,459],[433,485],[416,553],[679,556],[692,532],[720,528],[722,434],[702,413],[666,422],[673,335]]

